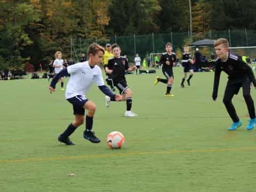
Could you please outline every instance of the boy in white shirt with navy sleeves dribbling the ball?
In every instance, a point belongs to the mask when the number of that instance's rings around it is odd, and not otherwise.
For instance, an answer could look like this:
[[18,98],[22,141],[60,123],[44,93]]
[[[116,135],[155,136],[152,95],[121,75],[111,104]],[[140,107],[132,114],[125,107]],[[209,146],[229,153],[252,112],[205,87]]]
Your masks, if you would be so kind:
[[62,69],[60,73],[52,79],[51,85],[49,86],[50,93],[54,92],[58,79],[70,74],[65,97],[73,105],[75,120],[58,137],[58,140],[66,145],[74,145],[74,143],[69,140],[69,135],[71,135],[78,126],[84,123],[85,109],[87,109],[86,129],[83,136],[93,143],[100,142],[100,139],[91,131],[96,105],[85,97],[85,94],[89,91],[94,82],[99,86],[99,89],[111,99],[119,101],[121,98],[120,95],[113,94],[109,88],[104,85],[101,69],[98,66],[98,63],[102,61],[103,54],[104,49],[100,45],[97,43],[91,44],[88,49],[89,60]]

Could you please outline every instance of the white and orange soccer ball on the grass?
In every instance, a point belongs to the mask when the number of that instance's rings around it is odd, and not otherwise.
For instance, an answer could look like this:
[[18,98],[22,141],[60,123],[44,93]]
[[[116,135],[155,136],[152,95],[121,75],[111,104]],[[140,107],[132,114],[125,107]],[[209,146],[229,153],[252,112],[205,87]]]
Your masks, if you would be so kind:
[[118,131],[109,133],[107,144],[111,149],[120,149],[124,145],[124,135]]

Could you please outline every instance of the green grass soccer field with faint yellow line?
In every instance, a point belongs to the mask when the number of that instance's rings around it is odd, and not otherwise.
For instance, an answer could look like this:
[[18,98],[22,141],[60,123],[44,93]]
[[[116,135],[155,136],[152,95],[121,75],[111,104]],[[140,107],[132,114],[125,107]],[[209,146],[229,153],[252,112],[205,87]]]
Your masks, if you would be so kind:
[[[164,97],[166,85],[154,85],[156,75],[163,77],[161,70],[126,77],[135,118],[124,117],[125,102],[106,108],[94,85],[86,97],[97,105],[93,130],[102,141],[84,140],[82,125],[71,135],[75,146],[57,142],[73,120],[59,84],[50,94],[46,79],[1,81],[0,191],[255,191],[255,130],[245,130],[242,91],[233,102],[243,126],[230,132],[222,103],[226,74],[217,102],[214,73],[195,73],[181,89],[182,68],[175,68],[173,98]],[[122,149],[108,148],[111,131],[124,134]]]

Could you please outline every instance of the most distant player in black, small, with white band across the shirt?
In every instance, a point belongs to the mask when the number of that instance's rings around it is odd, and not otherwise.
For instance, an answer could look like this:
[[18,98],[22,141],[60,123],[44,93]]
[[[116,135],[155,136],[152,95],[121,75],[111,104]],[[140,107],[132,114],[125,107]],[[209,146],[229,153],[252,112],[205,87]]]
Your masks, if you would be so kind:
[[192,57],[191,57],[191,53],[188,52],[188,46],[185,46],[184,47],[184,53],[182,55],[182,60],[181,60],[181,63],[182,63],[182,66],[184,67],[184,76],[182,78],[182,81],[181,81],[181,84],[180,86],[182,88],[184,88],[184,82],[185,82],[185,79],[187,77],[187,73],[190,72],[190,75],[188,77],[188,85],[190,85],[190,79],[193,77],[193,74],[194,74],[194,71],[191,67],[191,65],[194,63],[193,60],[192,60]]

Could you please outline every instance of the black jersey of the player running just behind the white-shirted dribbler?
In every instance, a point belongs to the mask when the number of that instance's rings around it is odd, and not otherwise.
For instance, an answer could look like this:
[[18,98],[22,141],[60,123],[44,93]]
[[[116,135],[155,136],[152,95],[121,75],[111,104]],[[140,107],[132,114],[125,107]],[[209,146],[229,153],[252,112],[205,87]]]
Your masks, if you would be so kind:
[[121,81],[125,79],[125,70],[129,68],[128,61],[124,57],[110,58],[108,60],[108,69],[113,70],[111,77],[114,81]]

